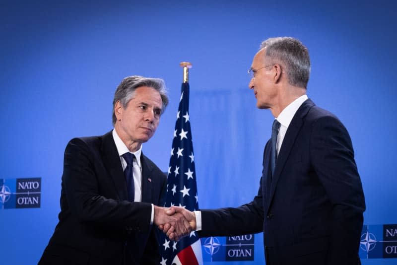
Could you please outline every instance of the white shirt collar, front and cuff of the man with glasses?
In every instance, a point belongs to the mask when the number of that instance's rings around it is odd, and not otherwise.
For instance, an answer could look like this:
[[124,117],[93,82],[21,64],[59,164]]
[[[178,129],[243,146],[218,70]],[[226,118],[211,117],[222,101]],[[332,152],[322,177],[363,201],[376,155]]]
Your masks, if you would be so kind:
[[[288,126],[294,118],[295,113],[298,111],[302,103],[307,100],[307,95],[300,96],[299,98],[292,101],[285,109],[281,111],[277,118],[275,118],[280,123],[280,129],[278,130],[276,151],[277,155],[280,151],[282,141],[284,140],[285,133],[287,133]],[[195,211],[196,214],[196,231],[201,230],[201,211]]]

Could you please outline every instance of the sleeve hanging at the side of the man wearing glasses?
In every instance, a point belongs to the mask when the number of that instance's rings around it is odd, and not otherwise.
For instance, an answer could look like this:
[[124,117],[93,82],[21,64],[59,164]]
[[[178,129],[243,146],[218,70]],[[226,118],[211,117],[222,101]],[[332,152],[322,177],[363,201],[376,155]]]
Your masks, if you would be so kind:
[[350,136],[332,116],[318,119],[311,134],[311,161],[332,204],[328,264],[355,264],[365,201]]

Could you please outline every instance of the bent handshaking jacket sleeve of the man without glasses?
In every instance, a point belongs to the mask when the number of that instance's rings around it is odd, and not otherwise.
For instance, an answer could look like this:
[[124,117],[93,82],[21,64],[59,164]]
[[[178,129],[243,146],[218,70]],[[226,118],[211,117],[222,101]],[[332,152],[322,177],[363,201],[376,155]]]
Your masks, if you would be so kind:
[[103,196],[106,187],[100,182],[108,176],[104,168],[98,169],[98,159],[101,158],[95,157],[85,141],[74,138],[68,143],[62,177],[67,202],[62,204],[67,205],[80,222],[148,231],[151,204]]

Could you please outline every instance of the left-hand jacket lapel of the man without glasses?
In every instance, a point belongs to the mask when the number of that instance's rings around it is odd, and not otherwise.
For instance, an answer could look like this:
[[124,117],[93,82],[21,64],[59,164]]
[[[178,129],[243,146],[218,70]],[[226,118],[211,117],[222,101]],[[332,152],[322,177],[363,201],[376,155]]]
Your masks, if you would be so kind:
[[103,163],[116,186],[119,198],[122,200],[128,199],[127,184],[112,131],[103,135],[102,154]]

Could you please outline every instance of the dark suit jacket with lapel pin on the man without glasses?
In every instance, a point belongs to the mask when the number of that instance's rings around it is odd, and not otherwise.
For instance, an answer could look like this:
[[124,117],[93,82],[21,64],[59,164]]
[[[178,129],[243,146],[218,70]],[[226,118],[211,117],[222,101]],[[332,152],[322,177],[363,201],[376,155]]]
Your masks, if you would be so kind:
[[164,173],[141,155],[142,202],[130,202],[112,132],[66,146],[61,212],[40,265],[159,264],[151,203],[163,205]]

